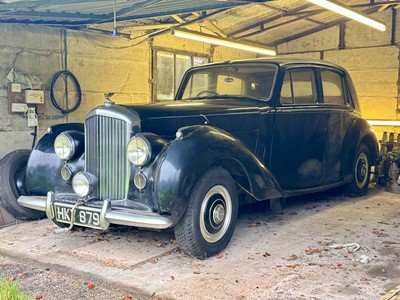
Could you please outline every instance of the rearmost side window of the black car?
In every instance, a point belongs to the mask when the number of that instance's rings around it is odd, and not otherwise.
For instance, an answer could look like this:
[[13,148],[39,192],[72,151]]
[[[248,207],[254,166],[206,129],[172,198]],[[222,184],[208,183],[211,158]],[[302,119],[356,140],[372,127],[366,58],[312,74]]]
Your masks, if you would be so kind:
[[324,93],[324,103],[326,104],[346,104],[343,92],[342,76],[330,70],[321,71],[322,89]]

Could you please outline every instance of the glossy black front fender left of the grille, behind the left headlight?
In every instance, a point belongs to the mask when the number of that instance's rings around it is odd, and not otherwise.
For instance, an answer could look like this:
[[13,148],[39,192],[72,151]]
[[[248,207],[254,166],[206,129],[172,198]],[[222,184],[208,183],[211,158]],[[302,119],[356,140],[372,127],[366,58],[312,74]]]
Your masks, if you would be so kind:
[[[75,130],[84,132],[84,126],[81,123],[59,124],[50,127],[50,130],[38,141],[26,167],[25,190],[29,195],[45,196],[47,192],[57,189],[71,190],[61,177],[60,169],[64,162],[54,152],[54,140],[64,131]],[[81,164],[82,157],[78,157],[73,164]]]

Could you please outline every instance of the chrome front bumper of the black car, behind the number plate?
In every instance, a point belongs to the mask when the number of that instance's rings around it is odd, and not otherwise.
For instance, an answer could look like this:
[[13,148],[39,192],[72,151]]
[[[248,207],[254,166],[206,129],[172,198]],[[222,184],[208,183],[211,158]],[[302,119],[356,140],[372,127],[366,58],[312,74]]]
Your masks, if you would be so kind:
[[[53,192],[48,192],[47,197],[44,196],[20,196],[18,203],[22,206],[35,210],[45,211],[49,219],[55,218],[54,203],[56,198]],[[63,206],[69,206],[62,204]],[[70,205],[71,208],[73,205]],[[84,205],[83,205],[84,206]],[[107,229],[110,224],[151,228],[166,229],[172,226],[172,221],[158,214],[143,213],[140,211],[125,212],[121,210],[113,210],[111,202],[105,200],[100,213],[101,229]]]

